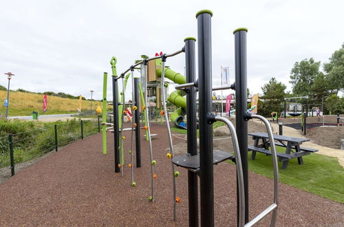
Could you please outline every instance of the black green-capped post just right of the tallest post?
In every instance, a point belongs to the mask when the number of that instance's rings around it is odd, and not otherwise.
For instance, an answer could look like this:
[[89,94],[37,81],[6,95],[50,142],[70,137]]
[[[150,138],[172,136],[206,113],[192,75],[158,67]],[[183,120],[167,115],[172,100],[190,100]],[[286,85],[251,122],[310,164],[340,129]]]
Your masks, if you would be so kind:
[[[235,123],[237,138],[239,141],[240,157],[244,176],[245,190],[245,223],[248,222],[248,159],[247,159],[247,134],[248,125],[244,119],[247,111],[247,56],[246,56],[246,28],[239,28],[234,32],[235,36]],[[237,197],[239,193],[237,193]],[[239,200],[237,199],[237,208]],[[237,210],[239,214],[239,210]]]

